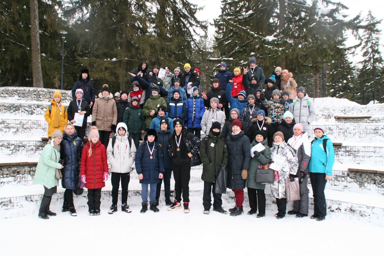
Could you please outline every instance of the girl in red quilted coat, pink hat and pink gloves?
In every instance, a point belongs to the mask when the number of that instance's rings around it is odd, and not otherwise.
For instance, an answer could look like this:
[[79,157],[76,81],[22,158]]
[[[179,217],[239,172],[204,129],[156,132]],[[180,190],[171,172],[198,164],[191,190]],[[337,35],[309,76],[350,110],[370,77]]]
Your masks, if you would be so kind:
[[101,188],[108,180],[107,154],[105,146],[99,140],[96,126],[91,127],[88,137],[89,141],[81,153],[80,175],[81,181],[88,188],[89,215],[100,215]]

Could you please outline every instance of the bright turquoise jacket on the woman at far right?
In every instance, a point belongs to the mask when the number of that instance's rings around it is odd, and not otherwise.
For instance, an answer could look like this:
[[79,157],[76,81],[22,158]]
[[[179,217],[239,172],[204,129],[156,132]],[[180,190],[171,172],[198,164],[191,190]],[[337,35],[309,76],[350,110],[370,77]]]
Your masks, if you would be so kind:
[[[323,149],[323,140],[327,140],[325,153]],[[314,138],[311,146],[310,173],[332,174],[332,167],[335,161],[335,153],[331,139],[324,135],[322,138]]]

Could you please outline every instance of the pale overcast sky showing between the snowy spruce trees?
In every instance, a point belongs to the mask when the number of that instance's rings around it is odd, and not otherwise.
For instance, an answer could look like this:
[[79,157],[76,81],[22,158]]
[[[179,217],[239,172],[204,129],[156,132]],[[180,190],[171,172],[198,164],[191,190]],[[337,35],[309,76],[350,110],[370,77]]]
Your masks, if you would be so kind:
[[[345,14],[350,15],[349,17],[355,17],[361,12],[361,16],[365,17],[368,14],[368,11],[371,10],[373,15],[377,18],[377,20],[384,18],[384,1],[380,0],[338,0],[339,2],[344,3],[349,10],[345,11]],[[335,1],[337,2],[337,1]],[[213,23],[214,18],[217,18],[221,14],[221,0],[194,0],[193,3],[199,6],[205,6],[204,10],[197,13],[197,18],[200,20],[207,20]],[[382,30],[381,33],[384,32],[384,20],[379,25],[379,28]],[[210,36],[215,33],[215,28],[210,27],[208,30]],[[381,43],[384,43],[383,36],[381,37]],[[347,46],[351,46],[354,44],[354,39],[347,41]],[[384,53],[384,47],[381,47],[381,52]],[[384,57],[384,56],[383,56]],[[354,61],[361,61],[362,57],[353,58]]]

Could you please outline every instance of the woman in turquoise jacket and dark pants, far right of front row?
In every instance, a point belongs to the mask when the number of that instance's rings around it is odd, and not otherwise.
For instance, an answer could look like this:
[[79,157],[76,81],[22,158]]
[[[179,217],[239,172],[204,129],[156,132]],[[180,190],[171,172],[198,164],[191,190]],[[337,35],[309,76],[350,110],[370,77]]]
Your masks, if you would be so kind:
[[311,219],[323,221],[327,214],[324,189],[327,180],[331,179],[335,154],[331,139],[324,135],[323,126],[316,126],[314,135],[310,160],[310,178],[314,203],[314,214]]

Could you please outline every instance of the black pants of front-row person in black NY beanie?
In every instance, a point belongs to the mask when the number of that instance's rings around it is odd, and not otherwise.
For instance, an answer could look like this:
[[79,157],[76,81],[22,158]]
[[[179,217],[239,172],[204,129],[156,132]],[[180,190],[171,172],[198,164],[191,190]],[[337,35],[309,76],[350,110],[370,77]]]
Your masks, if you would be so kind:
[[189,202],[189,179],[191,168],[189,165],[173,165],[173,178],[175,180],[175,199],[181,202],[181,193],[183,193],[183,202]]

